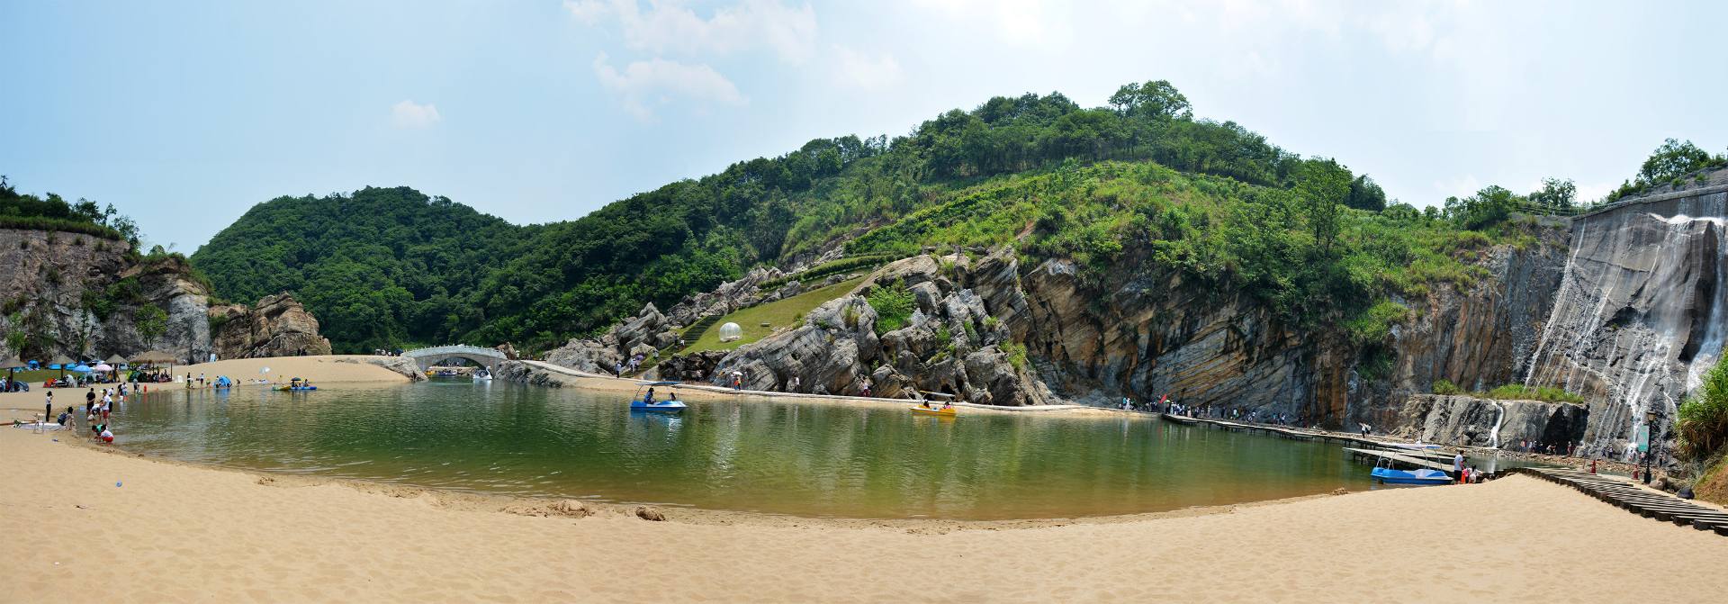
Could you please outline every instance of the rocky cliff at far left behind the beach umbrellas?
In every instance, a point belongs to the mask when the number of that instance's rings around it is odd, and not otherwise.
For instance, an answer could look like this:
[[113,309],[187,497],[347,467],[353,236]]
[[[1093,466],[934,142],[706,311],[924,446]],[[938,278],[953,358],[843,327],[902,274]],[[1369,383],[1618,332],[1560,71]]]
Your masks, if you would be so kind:
[[[123,241],[67,232],[0,228],[0,279],[10,298],[3,301],[0,332],[9,355],[21,358],[111,357],[166,350],[183,358],[226,357],[211,334],[209,286],[197,279],[178,254],[137,256]],[[268,299],[266,299],[268,301]],[[271,317],[301,315],[304,320],[268,320],[256,337],[292,341],[276,329],[316,337],[316,320],[292,299],[259,308]],[[237,315],[252,317],[240,305],[223,308],[216,324]],[[226,324],[223,324],[226,327]],[[237,329],[238,325],[235,325]],[[257,339],[228,341],[256,343]],[[238,350],[238,348],[235,348]],[[323,344],[328,351],[328,343]]]

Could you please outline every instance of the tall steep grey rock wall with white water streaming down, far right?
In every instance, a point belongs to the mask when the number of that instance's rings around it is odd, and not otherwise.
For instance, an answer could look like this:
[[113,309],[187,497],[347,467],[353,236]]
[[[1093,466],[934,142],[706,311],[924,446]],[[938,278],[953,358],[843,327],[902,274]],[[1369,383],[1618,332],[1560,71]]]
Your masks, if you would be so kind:
[[1711,187],[1581,216],[1526,386],[1590,402],[1585,440],[1617,447],[1655,410],[1657,433],[1728,331],[1728,190]]

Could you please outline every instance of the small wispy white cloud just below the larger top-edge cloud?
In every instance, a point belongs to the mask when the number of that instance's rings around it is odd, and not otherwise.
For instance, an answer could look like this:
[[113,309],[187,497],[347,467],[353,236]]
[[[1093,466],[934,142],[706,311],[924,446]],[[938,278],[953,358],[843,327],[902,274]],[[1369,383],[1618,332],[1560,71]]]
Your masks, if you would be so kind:
[[619,97],[624,111],[643,121],[653,119],[653,107],[667,104],[672,97],[727,106],[748,102],[731,80],[705,64],[650,59],[634,61],[619,71],[607,61],[607,54],[600,54],[594,57],[594,76]]

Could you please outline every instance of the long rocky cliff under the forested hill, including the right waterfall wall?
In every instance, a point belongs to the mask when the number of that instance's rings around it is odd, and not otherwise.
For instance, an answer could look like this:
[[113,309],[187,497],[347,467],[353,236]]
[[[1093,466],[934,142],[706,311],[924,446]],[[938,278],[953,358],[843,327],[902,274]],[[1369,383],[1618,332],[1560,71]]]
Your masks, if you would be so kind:
[[[1408,317],[1381,343],[1286,325],[1256,299],[1187,282],[1132,246],[1121,270],[1106,273],[1061,258],[1021,267],[1004,246],[978,260],[924,254],[886,265],[797,329],[665,367],[715,382],[741,372],[753,389],[797,382],[857,395],[871,384],[878,396],[924,389],[995,405],[1168,395],[1433,441],[1531,438],[1617,450],[1643,408],[1671,417],[1688,382],[1721,355],[1725,175],[1578,220],[1515,218],[1517,244],[1455,251],[1467,279],[1396,299]],[[886,284],[907,287],[916,312],[878,332],[866,296]],[[600,353],[563,360],[617,358],[664,341],[653,334],[665,325],[781,294],[748,282],[726,291],[698,296],[708,306],[686,301],[667,313],[676,318],[645,308],[588,346]],[[1441,379],[1472,391],[1559,386],[1588,405],[1436,398],[1429,393]]]

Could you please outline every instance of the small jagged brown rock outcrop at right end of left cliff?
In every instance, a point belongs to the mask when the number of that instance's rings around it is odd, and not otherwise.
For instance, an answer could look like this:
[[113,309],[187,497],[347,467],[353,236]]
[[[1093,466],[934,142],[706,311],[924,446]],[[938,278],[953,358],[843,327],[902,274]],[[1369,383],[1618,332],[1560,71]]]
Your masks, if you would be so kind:
[[264,296],[256,306],[211,306],[209,324],[221,325],[211,346],[219,358],[328,355],[330,339],[318,336],[318,318],[294,296]]

